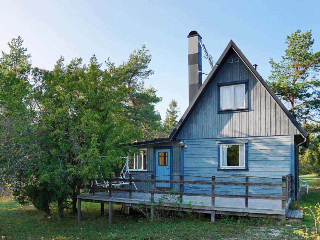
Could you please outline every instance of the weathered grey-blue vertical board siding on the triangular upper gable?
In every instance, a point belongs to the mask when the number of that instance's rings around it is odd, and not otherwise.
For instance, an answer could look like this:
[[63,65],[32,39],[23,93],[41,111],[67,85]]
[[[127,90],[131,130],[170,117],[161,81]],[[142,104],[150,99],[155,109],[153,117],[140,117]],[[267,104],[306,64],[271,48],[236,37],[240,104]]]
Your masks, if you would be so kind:
[[[208,139],[300,134],[291,120],[233,50],[181,127],[176,139]],[[248,79],[248,109],[218,113],[218,83]],[[207,80],[206,80],[207,81]]]

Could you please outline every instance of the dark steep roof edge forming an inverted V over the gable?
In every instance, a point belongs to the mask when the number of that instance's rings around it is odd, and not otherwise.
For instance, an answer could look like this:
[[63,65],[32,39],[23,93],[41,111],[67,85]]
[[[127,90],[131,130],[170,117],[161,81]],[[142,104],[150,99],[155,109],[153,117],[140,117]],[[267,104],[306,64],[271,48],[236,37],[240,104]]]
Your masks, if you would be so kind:
[[280,108],[284,111],[284,113],[289,117],[292,124],[299,130],[299,132],[307,138],[309,135],[308,133],[301,127],[301,125],[298,123],[298,121],[295,119],[295,117],[290,113],[290,111],[284,106],[284,104],[281,102],[281,100],[276,96],[276,94],[272,91],[272,89],[268,86],[268,84],[263,80],[263,78],[260,76],[260,74],[257,72],[257,70],[252,66],[252,64],[249,62],[249,60],[244,56],[244,54],[241,52],[241,50],[236,46],[236,44],[230,40],[229,44],[227,45],[226,49],[221,54],[219,60],[212,68],[211,72],[207,76],[206,80],[204,81],[204,84],[201,85],[198,92],[196,93],[193,100],[190,102],[187,110],[181,117],[180,121],[178,122],[177,126],[174,128],[172,133],[170,134],[168,140],[171,141],[174,139],[178,133],[180,132],[180,129],[183,127],[185,122],[188,119],[188,116],[191,114],[193,108],[196,106],[198,101],[200,100],[201,96],[204,94],[205,90],[209,86],[209,83],[212,82],[214,76],[219,72],[219,69],[221,68],[223,63],[227,57],[227,53],[229,50],[233,49],[236,54],[239,56],[241,60],[243,60],[244,64],[247,66],[247,68],[250,69],[252,74],[260,81],[260,83],[266,88],[266,90],[269,92],[269,94],[272,96],[272,98],[276,101],[276,103],[280,106]]

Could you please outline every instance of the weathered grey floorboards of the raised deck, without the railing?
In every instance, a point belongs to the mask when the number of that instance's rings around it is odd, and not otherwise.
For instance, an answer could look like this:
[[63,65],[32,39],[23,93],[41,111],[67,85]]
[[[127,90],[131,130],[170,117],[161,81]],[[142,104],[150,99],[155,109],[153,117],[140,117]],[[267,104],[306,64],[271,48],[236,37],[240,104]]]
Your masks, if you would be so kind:
[[[163,194],[154,194],[154,205],[158,205],[158,199]],[[78,200],[83,202],[95,202],[102,204],[120,204],[124,206],[135,206],[145,204],[146,207],[151,206],[150,194],[148,193],[132,193],[132,199],[129,199],[128,192],[114,192],[112,197],[108,196],[108,192],[99,192],[93,194],[77,195]],[[189,204],[191,203],[191,204]],[[290,202],[286,203],[285,210],[282,209],[281,200],[270,199],[248,199],[248,207],[245,207],[245,199],[216,197],[215,205],[211,204],[211,197],[206,196],[183,196],[182,204],[172,204],[164,202],[163,207],[168,210],[184,211],[184,212],[203,212],[222,215],[252,216],[252,217],[271,217],[282,218],[288,210]],[[192,206],[190,206],[192,205]]]

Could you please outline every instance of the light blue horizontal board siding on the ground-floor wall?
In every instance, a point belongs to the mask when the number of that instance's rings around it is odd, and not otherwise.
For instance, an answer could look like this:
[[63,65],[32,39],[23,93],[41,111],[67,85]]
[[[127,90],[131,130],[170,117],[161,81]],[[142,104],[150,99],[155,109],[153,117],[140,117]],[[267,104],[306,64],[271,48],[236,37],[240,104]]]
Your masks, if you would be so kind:
[[[248,171],[217,170],[219,159],[218,144],[216,142],[221,139],[189,139],[185,140],[188,147],[184,150],[184,174],[204,177],[211,177],[212,175],[216,177],[236,175],[281,178],[291,173],[291,136],[248,137],[241,139],[248,140]],[[228,139],[225,138],[224,140]],[[232,138],[232,140],[235,140],[235,138]],[[184,180],[194,180],[194,178],[185,177]],[[244,179],[239,180],[244,181]],[[259,178],[251,178],[251,180],[281,181],[262,180]],[[190,185],[185,185],[184,191],[210,193],[211,189],[210,186],[206,185],[191,185],[191,187]],[[240,192],[244,194],[245,188],[243,186],[216,186],[216,193],[236,194]],[[281,188],[250,187],[249,193],[281,195]]]

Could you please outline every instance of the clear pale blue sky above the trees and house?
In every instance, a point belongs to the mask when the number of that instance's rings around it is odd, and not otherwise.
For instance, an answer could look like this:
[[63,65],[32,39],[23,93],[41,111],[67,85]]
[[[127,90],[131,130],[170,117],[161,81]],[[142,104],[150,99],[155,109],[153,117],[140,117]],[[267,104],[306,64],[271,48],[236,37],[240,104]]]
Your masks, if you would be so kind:
[[[164,118],[175,99],[188,107],[187,35],[196,30],[217,60],[232,39],[265,79],[270,57],[281,59],[285,37],[296,29],[313,30],[320,50],[320,1],[4,1],[0,0],[0,50],[20,35],[33,66],[52,69],[96,54],[116,64],[145,44],[155,74],[146,80],[163,97],[156,106]],[[203,59],[203,71],[210,71]]]

